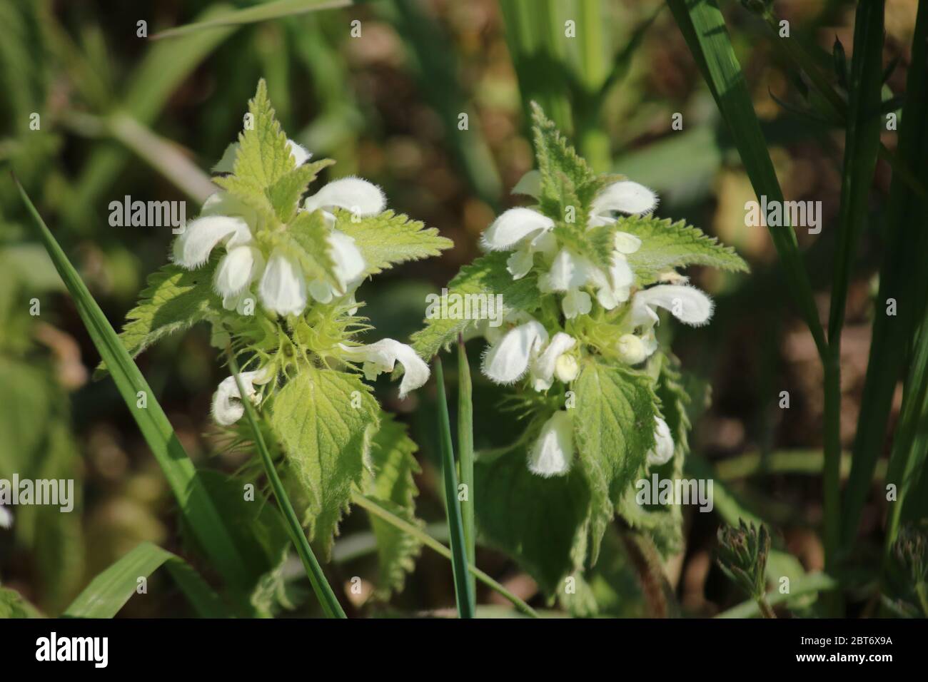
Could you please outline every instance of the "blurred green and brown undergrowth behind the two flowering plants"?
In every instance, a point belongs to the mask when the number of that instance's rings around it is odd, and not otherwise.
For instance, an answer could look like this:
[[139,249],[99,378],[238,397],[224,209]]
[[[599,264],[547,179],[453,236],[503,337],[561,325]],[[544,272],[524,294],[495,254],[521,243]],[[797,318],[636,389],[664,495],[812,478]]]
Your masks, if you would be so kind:
[[[843,133],[778,104],[796,99],[801,84],[794,83],[771,33],[740,3],[719,4],[786,198],[822,202],[821,234],[797,236],[827,315],[829,225],[838,209]],[[187,215],[195,215],[210,191],[209,170],[237,135],[247,99],[264,77],[290,137],[316,157],[337,161],[323,179],[361,175],[383,187],[391,208],[454,240],[442,257],[391,270],[359,292],[367,302],[362,314],[378,337],[406,341],[421,324],[426,294],[469,263],[483,229],[516,205],[509,189],[533,167],[525,110],[535,99],[596,170],[654,188],[662,198],[660,217],[701,227],[751,264],[750,276],[692,268],[688,274],[715,296],[715,318],[706,328],[664,331],[676,334],[673,348],[691,375],[701,413],[691,437],[693,457],[714,465],[716,485],[769,521],[795,558],[795,571],[821,569],[815,530],[822,507],[822,395],[815,345],[784,290],[767,230],[744,225],[744,203],[754,192],[662,3],[380,0],[150,40],[161,30],[251,5],[0,0],[0,161],[15,168],[114,327],[121,328],[146,277],[165,262],[172,235],[169,227],[110,226],[110,201],[125,195],[187,200]],[[775,6],[793,34],[824,58],[836,36],[850,50],[853,4]],[[896,93],[905,87],[915,11],[915,0],[887,2],[884,63],[898,59],[888,80]],[[575,38],[564,34],[568,20],[576,22]],[[353,26],[360,35],[353,36]],[[462,113],[466,130],[458,125]],[[679,130],[671,125],[677,113]],[[892,147],[895,136],[885,135],[884,142]],[[874,209],[889,177],[881,162]],[[880,213],[873,217],[844,330],[845,446],[857,424],[882,253]],[[32,299],[40,302],[41,315],[30,315]],[[470,348],[472,367],[480,350]],[[13,508],[13,527],[0,528],[0,581],[48,614],[57,614],[93,575],[141,540],[185,554],[161,470],[112,381],[90,379],[98,359],[3,174],[0,478],[13,472],[73,478],[78,504],[71,514]],[[161,342],[137,362],[195,461],[236,470],[242,454],[224,451],[209,419],[213,390],[227,372],[207,329]],[[453,384],[455,363],[448,365]],[[476,446],[503,444],[511,433],[500,426],[500,394],[477,371],[474,380]],[[788,409],[780,407],[783,391],[789,392]],[[441,537],[433,394],[426,389],[400,403],[395,385],[382,380],[378,395],[412,427],[423,467],[419,516]],[[881,499],[874,490],[865,508],[862,552],[879,547]],[[713,563],[719,517],[689,511],[686,549],[670,561],[668,573],[684,613],[712,615],[741,596]],[[617,537],[610,535],[606,544],[597,569],[601,580],[594,581],[600,612],[646,614],[630,568],[634,557]],[[351,596],[357,612],[453,608],[449,564],[429,550],[390,603],[370,598],[373,551],[366,522],[349,517],[327,571],[334,584],[362,577],[364,593]],[[513,592],[545,605],[511,560],[480,549],[478,563]],[[278,599],[281,614],[315,612],[301,575],[297,564]],[[131,599],[122,615],[189,614],[169,577],[151,580],[159,586]],[[478,599],[501,603],[483,589]]]

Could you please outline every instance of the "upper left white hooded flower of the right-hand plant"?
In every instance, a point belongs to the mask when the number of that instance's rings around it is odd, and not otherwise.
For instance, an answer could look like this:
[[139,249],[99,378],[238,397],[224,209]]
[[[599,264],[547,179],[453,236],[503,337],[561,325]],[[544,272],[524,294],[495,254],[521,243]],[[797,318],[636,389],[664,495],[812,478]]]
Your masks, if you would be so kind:
[[554,221],[532,209],[509,209],[496,218],[481,237],[486,251],[515,251],[506,262],[513,279],[525,277],[532,269],[535,251],[550,253],[556,248],[550,229]]

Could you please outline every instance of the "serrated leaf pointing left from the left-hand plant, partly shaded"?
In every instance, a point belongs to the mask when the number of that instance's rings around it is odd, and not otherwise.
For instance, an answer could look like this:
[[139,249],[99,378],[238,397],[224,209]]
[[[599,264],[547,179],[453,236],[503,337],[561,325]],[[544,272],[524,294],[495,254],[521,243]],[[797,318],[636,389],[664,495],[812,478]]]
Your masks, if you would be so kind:
[[[213,291],[215,265],[215,258],[198,270],[165,264],[148,276],[148,286],[139,294],[135,308],[125,315],[119,334],[132,357],[155,341],[222,311],[222,302]],[[101,362],[97,373],[105,370]]]

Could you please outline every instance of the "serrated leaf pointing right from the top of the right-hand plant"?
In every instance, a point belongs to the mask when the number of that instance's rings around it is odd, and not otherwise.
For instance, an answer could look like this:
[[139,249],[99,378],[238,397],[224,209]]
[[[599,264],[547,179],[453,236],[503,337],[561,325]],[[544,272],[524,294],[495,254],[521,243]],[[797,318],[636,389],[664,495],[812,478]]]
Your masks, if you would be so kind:
[[657,281],[668,270],[687,265],[708,265],[733,272],[749,270],[734,249],[682,220],[671,223],[666,218],[632,216],[620,219],[618,229],[641,239],[641,248],[626,256],[641,286]]

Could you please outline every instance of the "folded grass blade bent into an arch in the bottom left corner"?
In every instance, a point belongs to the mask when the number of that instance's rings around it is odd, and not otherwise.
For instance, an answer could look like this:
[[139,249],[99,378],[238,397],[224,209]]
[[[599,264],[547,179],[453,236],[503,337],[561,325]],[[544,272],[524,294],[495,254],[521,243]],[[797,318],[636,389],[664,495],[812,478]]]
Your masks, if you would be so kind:
[[99,573],[64,612],[68,618],[112,618],[134,594],[138,578],[148,578],[161,566],[171,573],[200,618],[227,618],[231,614],[187,561],[150,542],[136,545]]

